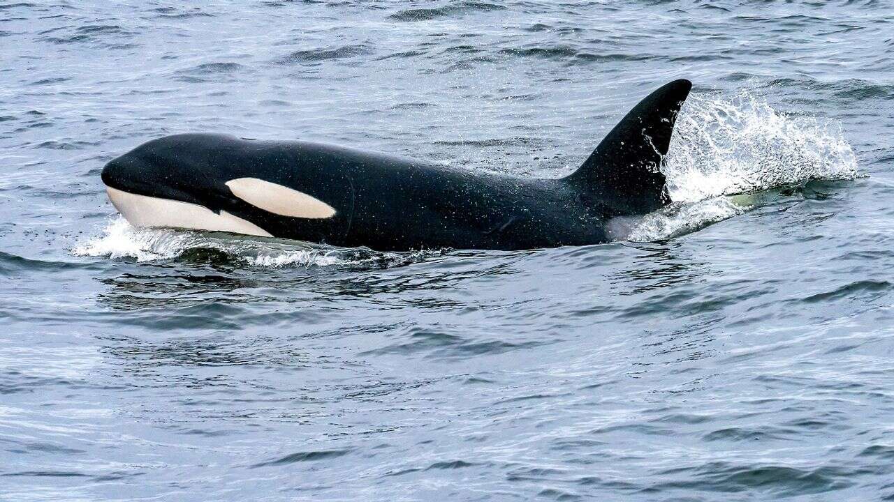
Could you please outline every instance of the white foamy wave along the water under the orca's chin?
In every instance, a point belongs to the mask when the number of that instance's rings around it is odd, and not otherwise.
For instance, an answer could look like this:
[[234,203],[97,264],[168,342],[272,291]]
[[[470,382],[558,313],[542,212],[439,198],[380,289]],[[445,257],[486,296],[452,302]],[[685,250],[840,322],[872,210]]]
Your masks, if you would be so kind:
[[108,222],[101,235],[75,244],[72,254],[138,262],[179,259],[261,268],[333,265],[391,267],[443,255],[443,250],[379,253],[367,248],[325,247],[299,241],[261,240],[215,232],[137,228],[118,216]]

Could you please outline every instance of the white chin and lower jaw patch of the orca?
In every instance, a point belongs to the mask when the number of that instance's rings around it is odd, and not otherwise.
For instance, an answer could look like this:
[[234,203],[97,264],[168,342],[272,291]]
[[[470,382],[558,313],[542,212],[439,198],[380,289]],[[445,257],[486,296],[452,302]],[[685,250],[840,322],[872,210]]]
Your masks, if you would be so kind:
[[205,206],[168,198],[139,196],[117,188],[105,187],[115,209],[135,227],[174,227],[179,229],[213,230],[273,237],[256,224],[233,216],[220,214]]

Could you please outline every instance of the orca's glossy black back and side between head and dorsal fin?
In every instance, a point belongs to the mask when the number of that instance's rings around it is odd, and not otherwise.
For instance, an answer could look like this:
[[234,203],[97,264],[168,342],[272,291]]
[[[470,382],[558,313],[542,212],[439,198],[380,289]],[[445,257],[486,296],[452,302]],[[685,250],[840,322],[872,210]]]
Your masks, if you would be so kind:
[[256,147],[252,156],[267,159],[257,164],[273,165],[276,159],[266,180],[339,209],[330,221],[268,217],[266,229],[275,227],[271,233],[277,236],[313,235],[312,240],[328,244],[379,250],[529,249],[607,239],[601,223],[609,208],[582,205],[564,180],[472,172],[315,143]]

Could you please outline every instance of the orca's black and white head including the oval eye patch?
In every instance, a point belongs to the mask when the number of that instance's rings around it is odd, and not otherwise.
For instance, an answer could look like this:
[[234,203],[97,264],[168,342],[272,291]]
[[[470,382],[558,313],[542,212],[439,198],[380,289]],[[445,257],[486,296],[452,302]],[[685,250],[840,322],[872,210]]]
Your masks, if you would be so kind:
[[115,209],[138,227],[269,237],[265,215],[335,214],[325,202],[259,177],[263,145],[252,143],[216,134],[154,139],[106,163],[102,180]]

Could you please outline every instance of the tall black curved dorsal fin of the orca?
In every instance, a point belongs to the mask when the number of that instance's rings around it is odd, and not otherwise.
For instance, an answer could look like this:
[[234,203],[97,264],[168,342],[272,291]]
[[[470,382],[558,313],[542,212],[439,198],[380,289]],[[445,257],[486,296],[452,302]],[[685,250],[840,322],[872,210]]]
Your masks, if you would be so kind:
[[567,180],[616,214],[649,213],[671,202],[659,171],[692,82],[674,80],[634,106]]

